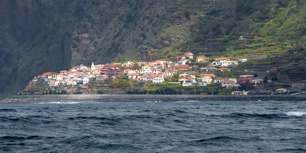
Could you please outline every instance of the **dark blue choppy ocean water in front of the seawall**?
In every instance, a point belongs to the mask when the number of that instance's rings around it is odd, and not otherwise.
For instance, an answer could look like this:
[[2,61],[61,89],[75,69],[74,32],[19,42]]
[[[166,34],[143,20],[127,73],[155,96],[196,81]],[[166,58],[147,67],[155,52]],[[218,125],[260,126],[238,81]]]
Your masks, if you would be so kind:
[[305,152],[306,101],[0,104],[0,152]]

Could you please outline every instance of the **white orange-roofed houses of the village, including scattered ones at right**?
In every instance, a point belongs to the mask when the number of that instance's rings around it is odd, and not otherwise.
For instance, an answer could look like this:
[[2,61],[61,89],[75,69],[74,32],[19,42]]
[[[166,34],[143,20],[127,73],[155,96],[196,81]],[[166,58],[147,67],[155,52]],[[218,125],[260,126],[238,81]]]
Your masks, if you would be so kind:
[[[156,60],[154,62],[131,62],[112,63],[112,64],[98,64],[92,63],[91,67],[85,65],[73,66],[71,69],[62,70],[59,73],[46,72],[35,77],[34,82],[41,79],[46,87],[78,87],[86,85],[91,79],[96,81],[113,80],[121,75],[127,75],[130,80],[144,83],[163,83],[165,78],[171,78],[177,74],[178,71],[188,71],[192,68],[191,60],[193,54],[185,53],[180,57],[176,57],[173,61]],[[205,56],[198,56],[195,62],[207,62],[209,58]],[[243,59],[245,62],[246,59]],[[139,69],[133,69],[135,65]],[[230,72],[229,67],[238,65],[238,61],[233,61],[229,58],[215,58],[215,60],[208,67],[199,69],[197,75],[183,73],[179,75],[179,82],[182,86],[207,86],[211,83],[221,84],[226,89],[238,89],[241,84],[249,82],[254,84],[254,90],[251,93],[269,93],[270,90],[262,89],[259,80],[256,80],[253,75],[240,75],[239,78],[218,78],[214,72]],[[170,82],[174,82],[171,81]],[[301,87],[303,85],[303,87]],[[304,88],[304,84],[293,84],[292,88]],[[288,90],[277,89],[274,93],[284,93]],[[246,92],[235,92],[233,94],[245,94]]]

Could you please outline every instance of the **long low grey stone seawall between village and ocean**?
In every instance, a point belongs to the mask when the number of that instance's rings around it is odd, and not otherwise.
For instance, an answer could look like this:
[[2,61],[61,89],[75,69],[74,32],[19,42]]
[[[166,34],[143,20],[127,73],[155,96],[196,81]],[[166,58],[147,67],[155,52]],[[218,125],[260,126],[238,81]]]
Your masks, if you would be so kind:
[[306,95],[126,95],[126,94],[83,94],[83,95],[23,95],[12,96],[0,103],[36,102],[146,102],[146,101],[304,101]]

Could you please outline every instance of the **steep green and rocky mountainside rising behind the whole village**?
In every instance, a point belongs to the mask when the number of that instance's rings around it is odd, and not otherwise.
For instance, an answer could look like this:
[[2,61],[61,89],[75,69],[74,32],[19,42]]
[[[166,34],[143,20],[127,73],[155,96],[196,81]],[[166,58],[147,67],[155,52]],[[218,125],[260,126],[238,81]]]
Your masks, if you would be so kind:
[[186,51],[282,60],[283,74],[304,74],[305,7],[304,0],[3,0],[0,93],[72,65],[172,59]]

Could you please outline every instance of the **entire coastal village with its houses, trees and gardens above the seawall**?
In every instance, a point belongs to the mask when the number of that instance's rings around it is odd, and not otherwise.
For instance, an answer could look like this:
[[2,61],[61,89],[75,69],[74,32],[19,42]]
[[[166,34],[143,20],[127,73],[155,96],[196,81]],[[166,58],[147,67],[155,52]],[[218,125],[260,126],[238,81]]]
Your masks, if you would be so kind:
[[299,94],[305,84],[280,86],[277,77],[232,69],[247,59],[210,59],[187,52],[172,61],[78,65],[45,72],[18,95],[29,94]]

